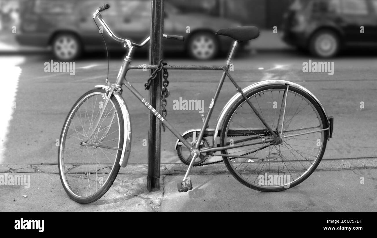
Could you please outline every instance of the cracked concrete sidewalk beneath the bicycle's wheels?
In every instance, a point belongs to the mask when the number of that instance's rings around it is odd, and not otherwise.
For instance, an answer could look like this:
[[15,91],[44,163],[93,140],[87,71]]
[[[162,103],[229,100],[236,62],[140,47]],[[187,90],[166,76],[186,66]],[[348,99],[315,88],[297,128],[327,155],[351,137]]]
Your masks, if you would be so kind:
[[322,160],[307,180],[282,192],[249,189],[219,163],[194,167],[193,190],[179,193],[186,168],[161,165],[161,189],[148,192],[147,166],[130,164],[100,200],[82,205],[65,193],[57,165],[0,165],[0,175],[30,175],[29,189],[0,186],[0,211],[377,211],[377,158]]

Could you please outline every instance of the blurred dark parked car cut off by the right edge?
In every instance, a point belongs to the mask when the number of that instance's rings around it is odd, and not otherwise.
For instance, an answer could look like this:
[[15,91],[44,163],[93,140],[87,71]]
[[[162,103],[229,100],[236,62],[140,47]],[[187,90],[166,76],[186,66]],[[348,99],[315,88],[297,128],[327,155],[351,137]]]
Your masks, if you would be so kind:
[[282,29],[286,43],[322,58],[349,46],[377,46],[377,0],[295,0]]

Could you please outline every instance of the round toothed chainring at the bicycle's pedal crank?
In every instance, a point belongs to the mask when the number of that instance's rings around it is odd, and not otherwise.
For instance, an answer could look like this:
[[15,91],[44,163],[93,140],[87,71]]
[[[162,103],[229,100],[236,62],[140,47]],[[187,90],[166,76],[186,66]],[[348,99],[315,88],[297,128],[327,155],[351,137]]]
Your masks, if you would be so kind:
[[[198,134],[199,133],[196,133],[196,135],[198,135]],[[195,143],[196,143],[196,139],[195,139],[195,141],[193,140],[193,132],[185,134],[183,136],[183,138],[188,140],[192,145],[195,145]],[[201,140],[201,144],[199,145],[199,149],[203,148],[203,147],[209,147],[209,143],[205,138],[203,138]],[[178,154],[179,159],[182,161],[182,163],[184,163],[185,165],[190,165],[192,156],[190,154],[190,150],[185,145],[178,145],[177,146],[177,154]],[[208,156],[209,156],[208,153],[200,154],[200,156],[195,159],[194,165],[199,165],[199,164],[203,163],[208,158]]]

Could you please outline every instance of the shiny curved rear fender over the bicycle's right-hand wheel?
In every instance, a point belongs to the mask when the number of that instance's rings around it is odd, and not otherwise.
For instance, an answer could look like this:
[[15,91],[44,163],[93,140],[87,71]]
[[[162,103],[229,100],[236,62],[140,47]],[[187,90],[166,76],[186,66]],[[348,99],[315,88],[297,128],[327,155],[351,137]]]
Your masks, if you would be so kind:
[[[247,94],[251,90],[254,90],[254,89],[258,88],[258,87],[262,87],[262,86],[265,86],[265,85],[272,85],[272,84],[280,84],[280,85],[289,84],[291,86],[300,88],[301,90],[303,90],[306,93],[308,93],[311,97],[313,97],[314,100],[316,100],[318,102],[320,108],[322,109],[322,113],[326,117],[326,120],[325,120],[326,125],[324,125],[324,126],[327,127],[327,128],[330,128],[330,127],[332,128],[332,125],[330,125],[330,122],[329,122],[329,117],[327,116],[325,108],[323,108],[323,106],[320,103],[320,101],[316,98],[316,96],[314,96],[313,93],[311,93],[309,90],[307,90],[306,88],[302,87],[299,84],[295,84],[293,82],[289,82],[289,81],[285,81],[285,80],[265,80],[265,81],[262,81],[262,82],[257,82],[255,84],[249,85],[248,87],[245,87],[244,89],[242,89],[242,92],[244,92],[245,94]],[[225,104],[225,107],[222,109],[221,113],[219,114],[219,117],[217,119],[217,124],[216,124],[215,130],[214,130],[214,133],[213,133],[213,143],[212,144],[213,144],[214,147],[216,147],[216,145],[217,145],[217,136],[218,136],[218,132],[220,130],[220,127],[222,125],[222,122],[224,121],[224,117],[228,114],[228,112],[230,110],[230,107],[233,105],[233,103],[236,102],[240,98],[242,98],[241,93],[236,93],[236,95],[234,95],[227,102],[227,104]],[[328,133],[327,139],[330,138],[331,132],[332,132],[332,130],[329,129],[329,133]]]

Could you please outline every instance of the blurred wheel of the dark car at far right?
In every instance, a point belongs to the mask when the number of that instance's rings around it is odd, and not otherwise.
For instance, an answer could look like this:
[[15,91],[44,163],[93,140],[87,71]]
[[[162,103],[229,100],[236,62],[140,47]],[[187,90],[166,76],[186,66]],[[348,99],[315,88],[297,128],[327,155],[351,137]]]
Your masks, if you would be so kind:
[[309,50],[314,56],[331,58],[338,53],[339,48],[339,37],[333,31],[319,31],[310,39]]

